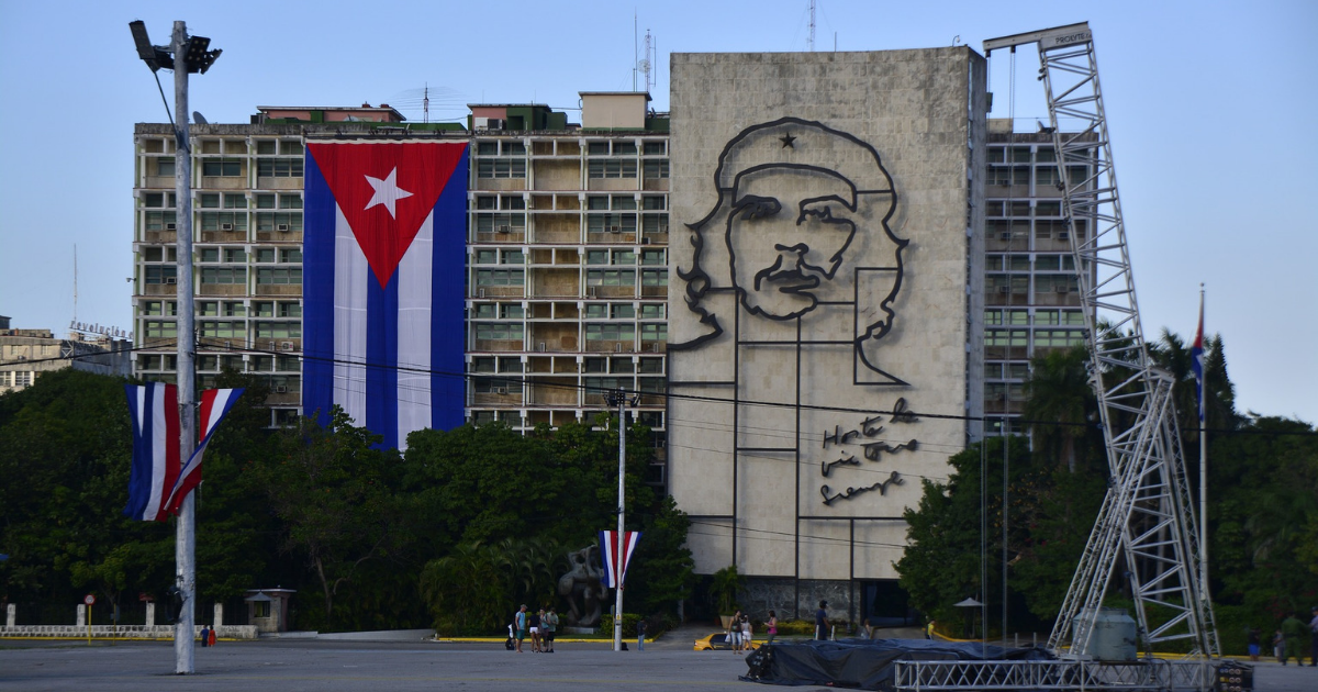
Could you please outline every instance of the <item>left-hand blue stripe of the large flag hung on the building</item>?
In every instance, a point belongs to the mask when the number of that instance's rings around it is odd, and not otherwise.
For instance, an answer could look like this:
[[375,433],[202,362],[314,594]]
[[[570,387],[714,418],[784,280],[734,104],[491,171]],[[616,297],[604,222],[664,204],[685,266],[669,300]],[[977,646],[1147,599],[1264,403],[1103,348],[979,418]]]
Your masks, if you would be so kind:
[[316,159],[307,154],[302,243],[302,414],[333,406],[335,199]]

